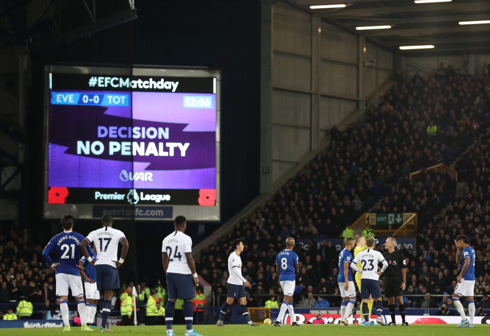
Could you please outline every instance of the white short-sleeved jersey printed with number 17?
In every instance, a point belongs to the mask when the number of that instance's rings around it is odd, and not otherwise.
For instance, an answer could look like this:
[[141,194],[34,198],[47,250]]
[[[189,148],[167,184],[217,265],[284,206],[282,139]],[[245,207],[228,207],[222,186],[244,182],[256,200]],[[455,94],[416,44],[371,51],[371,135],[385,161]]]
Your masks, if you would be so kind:
[[110,226],[103,226],[100,229],[93,230],[85,237],[90,243],[93,242],[97,250],[97,259],[95,265],[110,265],[116,267],[114,261],[118,261],[117,248],[122,238],[126,236],[122,231]]

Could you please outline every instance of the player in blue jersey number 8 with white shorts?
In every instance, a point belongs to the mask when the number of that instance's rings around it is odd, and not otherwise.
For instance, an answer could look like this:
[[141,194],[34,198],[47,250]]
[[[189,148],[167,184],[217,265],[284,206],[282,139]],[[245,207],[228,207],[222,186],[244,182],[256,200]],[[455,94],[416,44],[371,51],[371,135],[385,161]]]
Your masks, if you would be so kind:
[[286,249],[279,252],[276,257],[276,271],[279,275],[282,292],[284,293],[284,301],[282,302],[276,323],[274,323],[278,327],[282,326],[281,321],[284,318],[284,314],[286,314],[286,309],[289,312],[292,325],[299,326],[298,322],[296,322],[295,309],[292,306],[292,295],[296,287],[296,274],[300,273],[298,254],[292,251],[293,248],[295,248],[295,239],[289,237],[286,239]]

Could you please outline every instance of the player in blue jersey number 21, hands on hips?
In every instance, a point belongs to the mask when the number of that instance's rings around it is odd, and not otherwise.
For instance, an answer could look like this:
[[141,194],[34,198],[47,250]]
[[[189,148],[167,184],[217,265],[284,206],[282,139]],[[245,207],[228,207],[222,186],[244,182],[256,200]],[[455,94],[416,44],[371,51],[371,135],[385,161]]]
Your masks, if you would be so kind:
[[[42,251],[42,256],[51,268],[56,271],[56,296],[60,297],[60,311],[65,325],[63,331],[70,331],[68,321],[68,289],[75,296],[78,303],[78,313],[82,324],[82,331],[93,331],[86,324],[86,307],[83,300],[82,279],[80,269],[77,267],[80,261],[80,243],[83,235],[73,230],[75,219],[71,215],[61,218],[63,232],[53,237]],[[55,252],[58,262],[51,260],[50,253]],[[92,249],[89,253],[93,255]]]

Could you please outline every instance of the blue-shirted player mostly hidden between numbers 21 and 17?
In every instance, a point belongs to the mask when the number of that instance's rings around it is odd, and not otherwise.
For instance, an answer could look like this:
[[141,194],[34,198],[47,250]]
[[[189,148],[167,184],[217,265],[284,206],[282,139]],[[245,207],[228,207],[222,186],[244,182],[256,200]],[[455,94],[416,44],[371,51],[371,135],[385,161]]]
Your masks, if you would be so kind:
[[[93,250],[95,247],[93,243],[90,245]],[[96,258],[97,255],[94,254]],[[85,311],[87,313],[87,325],[91,328],[95,328],[96,325],[94,323],[95,314],[97,314],[97,303],[99,302],[101,296],[99,290],[97,290],[97,276],[95,274],[95,266],[90,264],[87,258],[82,256],[79,262],[80,266],[80,275],[83,278],[83,286],[85,287]]]

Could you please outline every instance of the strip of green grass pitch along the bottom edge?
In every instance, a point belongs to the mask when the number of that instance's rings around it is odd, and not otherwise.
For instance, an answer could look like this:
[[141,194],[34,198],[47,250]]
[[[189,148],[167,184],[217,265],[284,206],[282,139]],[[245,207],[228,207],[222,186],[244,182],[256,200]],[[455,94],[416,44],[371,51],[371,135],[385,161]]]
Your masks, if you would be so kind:
[[[138,326],[138,327],[112,327],[114,330],[112,335],[165,335],[164,326]],[[361,330],[362,329],[362,330]],[[62,328],[12,328],[0,329],[0,334],[15,336],[15,335],[50,335],[61,334]],[[99,333],[99,329],[93,329],[93,333]],[[259,327],[249,327],[246,325],[227,325],[225,327],[217,327],[215,325],[196,325],[195,330],[203,336],[211,335],[227,335],[227,336],[298,336],[298,335],[355,335],[359,336],[363,333],[371,333],[377,335],[488,335],[490,334],[490,326],[475,325],[474,328],[457,328],[456,325],[411,325],[402,327],[388,326],[372,326],[364,327],[359,325],[340,326],[340,325],[302,325],[300,327],[284,326],[274,327],[273,325],[261,325]],[[81,333],[80,327],[72,327],[71,332]],[[185,326],[177,325],[174,327],[174,332],[177,336],[184,335]],[[66,334],[66,333],[64,333]],[[87,332],[85,332],[87,334]]]

